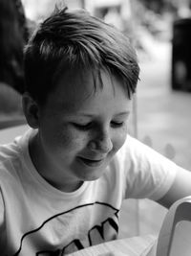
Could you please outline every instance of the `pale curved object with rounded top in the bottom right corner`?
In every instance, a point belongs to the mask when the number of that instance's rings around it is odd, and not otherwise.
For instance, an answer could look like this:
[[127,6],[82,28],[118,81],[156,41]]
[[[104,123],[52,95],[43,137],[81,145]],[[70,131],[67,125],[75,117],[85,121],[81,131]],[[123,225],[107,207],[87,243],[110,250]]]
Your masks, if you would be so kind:
[[157,256],[191,255],[191,197],[181,198],[169,209],[159,232]]

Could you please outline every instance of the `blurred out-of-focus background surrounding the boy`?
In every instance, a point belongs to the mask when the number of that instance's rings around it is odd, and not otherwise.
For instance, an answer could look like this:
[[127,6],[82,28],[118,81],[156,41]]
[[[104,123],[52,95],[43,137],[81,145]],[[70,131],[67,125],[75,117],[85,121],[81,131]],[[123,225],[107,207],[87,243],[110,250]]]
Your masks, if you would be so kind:
[[[130,37],[141,69],[130,132],[191,170],[190,0],[1,0],[0,129],[26,123],[21,108],[23,48],[55,3],[86,9]],[[5,132],[2,137],[11,136],[13,132]],[[120,236],[157,234],[165,214],[149,200],[124,202]],[[127,221],[128,228],[123,224]]]

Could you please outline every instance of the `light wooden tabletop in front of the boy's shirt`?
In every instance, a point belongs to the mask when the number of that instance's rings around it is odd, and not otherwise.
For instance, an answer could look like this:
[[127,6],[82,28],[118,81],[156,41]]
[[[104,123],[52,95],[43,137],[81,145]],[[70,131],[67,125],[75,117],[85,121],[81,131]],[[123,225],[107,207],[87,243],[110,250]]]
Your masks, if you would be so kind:
[[153,235],[120,239],[97,244],[70,256],[155,256],[157,238]]

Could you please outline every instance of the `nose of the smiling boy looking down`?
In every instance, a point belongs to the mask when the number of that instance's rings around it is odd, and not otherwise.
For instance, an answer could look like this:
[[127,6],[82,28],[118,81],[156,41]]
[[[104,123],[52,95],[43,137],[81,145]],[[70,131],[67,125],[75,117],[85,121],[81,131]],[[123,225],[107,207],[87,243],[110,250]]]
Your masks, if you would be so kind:
[[91,151],[108,153],[113,149],[113,142],[109,130],[97,131],[96,137],[89,142]]

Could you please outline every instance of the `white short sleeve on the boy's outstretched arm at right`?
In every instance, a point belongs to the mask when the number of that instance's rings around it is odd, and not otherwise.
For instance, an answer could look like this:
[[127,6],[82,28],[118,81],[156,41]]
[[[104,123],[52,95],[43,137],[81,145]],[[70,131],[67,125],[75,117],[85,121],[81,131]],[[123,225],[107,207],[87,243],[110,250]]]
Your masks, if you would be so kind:
[[179,169],[174,162],[129,135],[123,148],[123,165],[125,198],[162,198]]

